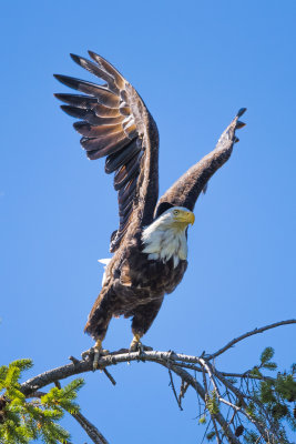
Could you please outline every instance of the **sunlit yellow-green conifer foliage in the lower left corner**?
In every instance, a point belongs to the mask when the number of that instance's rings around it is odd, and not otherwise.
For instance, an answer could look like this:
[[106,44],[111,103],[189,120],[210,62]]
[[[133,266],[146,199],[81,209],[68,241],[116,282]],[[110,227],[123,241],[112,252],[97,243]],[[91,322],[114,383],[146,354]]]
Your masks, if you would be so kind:
[[82,379],[63,389],[52,387],[44,395],[25,398],[19,380],[32,366],[31,360],[18,360],[0,367],[0,442],[27,444],[41,438],[45,444],[67,443],[70,434],[59,425],[64,412],[76,413],[74,402]]

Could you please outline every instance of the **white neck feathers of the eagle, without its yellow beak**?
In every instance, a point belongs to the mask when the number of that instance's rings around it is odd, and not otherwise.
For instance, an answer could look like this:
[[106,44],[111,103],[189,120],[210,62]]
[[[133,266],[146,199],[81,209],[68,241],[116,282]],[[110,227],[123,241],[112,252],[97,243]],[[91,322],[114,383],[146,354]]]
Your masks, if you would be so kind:
[[142,233],[143,252],[149,260],[170,261],[173,258],[174,268],[180,260],[187,259],[187,240],[185,235],[187,224],[172,224],[166,214],[160,216]]

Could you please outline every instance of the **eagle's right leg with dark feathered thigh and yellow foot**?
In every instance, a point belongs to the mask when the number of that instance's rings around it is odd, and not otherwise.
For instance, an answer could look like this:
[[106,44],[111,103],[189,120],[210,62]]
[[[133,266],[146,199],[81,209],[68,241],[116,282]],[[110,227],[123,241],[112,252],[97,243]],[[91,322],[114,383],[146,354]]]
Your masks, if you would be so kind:
[[134,316],[132,322],[132,332],[133,332],[133,340],[130,345],[130,351],[135,352],[143,350],[152,350],[142,344],[140,341],[142,336],[149,331],[150,326],[152,325],[154,319],[156,317],[160,307],[162,306],[163,296],[155,299],[147,304],[143,304],[137,306],[134,310]]

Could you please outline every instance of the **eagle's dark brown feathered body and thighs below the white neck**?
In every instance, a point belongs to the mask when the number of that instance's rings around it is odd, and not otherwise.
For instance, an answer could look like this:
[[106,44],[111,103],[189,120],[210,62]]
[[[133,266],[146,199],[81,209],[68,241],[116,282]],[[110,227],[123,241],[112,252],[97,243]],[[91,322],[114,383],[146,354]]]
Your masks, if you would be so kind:
[[187,261],[173,268],[169,262],[150,261],[142,252],[140,232],[110,263],[103,289],[90,313],[85,331],[95,339],[104,337],[112,316],[133,317],[132,331],[146,333],[163,302],[181,282]]

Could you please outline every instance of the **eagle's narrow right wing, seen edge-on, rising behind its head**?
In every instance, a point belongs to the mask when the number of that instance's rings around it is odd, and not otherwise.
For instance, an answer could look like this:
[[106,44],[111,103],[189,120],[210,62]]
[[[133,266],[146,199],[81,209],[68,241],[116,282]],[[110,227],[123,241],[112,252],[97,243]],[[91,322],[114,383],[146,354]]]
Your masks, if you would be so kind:
[[200,162],[185,172],[160,199],[154,216],[157,218],[171,206],[185,206],[193,211],[195,202],[205,189],[212,175],[229,159],[233,144],[238,142],[235,131],[243,128],[245,123],[238,119],[244,114],[246,108],[242,108],[232,123],[221,135],[216,148]]

